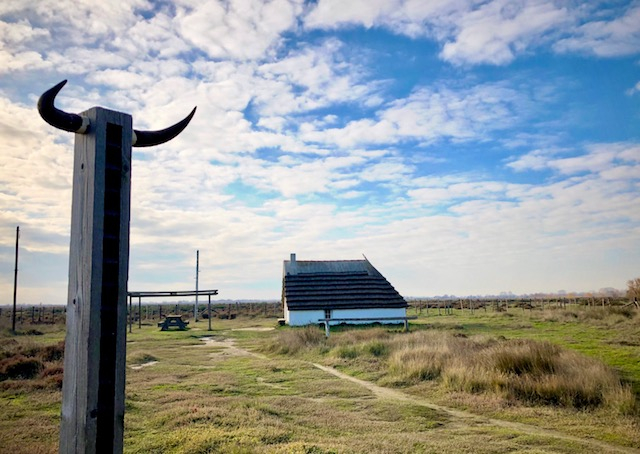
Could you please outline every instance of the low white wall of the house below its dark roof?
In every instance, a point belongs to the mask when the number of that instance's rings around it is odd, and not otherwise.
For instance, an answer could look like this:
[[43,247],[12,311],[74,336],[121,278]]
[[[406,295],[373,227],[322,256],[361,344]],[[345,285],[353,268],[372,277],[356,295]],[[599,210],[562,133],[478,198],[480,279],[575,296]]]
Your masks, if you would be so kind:
[[[329,317],[327,317],[329,315]],[[326,314],[323,310],[310,311],[290,311],[285,308],[284,318],[290,326],[304,326],[321,323],[323,318],[380,318],[379,323],[402,323],[402,320],[388,320],[392,317],[406,317],[406,308],[383,308],[383,309],[333,309]],[[384,319],[387,320],[384,320]],[[324,322],[322,322],[324,323]],[[350,321],[350,324],[376,323],[375,320]],[[330,322],[331,325],[338,325],[340,322]]]

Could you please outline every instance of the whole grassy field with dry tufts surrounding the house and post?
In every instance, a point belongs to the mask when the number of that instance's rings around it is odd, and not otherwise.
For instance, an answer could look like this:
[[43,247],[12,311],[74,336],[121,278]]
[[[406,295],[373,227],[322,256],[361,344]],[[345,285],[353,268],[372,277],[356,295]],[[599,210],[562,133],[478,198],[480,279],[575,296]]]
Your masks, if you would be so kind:
[[[436,314],[423,312],[410,333],[337,327],[328,340],[320,328],[276,327],[264,317],[216,319],[213,331],[206,321],[182,332],[134,326],[125,452],[640,450],[635,312]],[[64,333],[34,328],[43,334],[0,335],[5,366],[18,355],[24,370],[29,358],[41,364],[31,378],[0,369],[2,452],[57,452],[59,360],[51,352]]]

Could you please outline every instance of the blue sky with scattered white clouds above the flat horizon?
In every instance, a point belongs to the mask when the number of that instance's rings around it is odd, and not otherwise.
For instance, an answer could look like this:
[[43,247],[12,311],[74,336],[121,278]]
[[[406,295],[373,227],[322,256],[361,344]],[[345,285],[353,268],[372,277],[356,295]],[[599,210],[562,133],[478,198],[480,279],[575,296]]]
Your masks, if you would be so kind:
[[405,297],[640,276],[640,1],[2,0],[0,305],[65,304],[56,106],[186,116],[134,148],[129,290],[279,299],[283,260]]

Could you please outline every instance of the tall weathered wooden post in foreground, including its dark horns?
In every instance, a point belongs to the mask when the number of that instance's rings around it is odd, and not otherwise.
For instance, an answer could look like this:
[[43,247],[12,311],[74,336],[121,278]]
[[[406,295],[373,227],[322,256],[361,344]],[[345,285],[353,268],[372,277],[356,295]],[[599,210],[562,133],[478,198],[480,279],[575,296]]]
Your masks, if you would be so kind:
[[135,131],[131,116],[101,107],[54,107],[62,81],[38,101],[42,118],[75,132],[61,453],[121,453],[129,273],[131,147],[177,136],[191,114],[161,131]]

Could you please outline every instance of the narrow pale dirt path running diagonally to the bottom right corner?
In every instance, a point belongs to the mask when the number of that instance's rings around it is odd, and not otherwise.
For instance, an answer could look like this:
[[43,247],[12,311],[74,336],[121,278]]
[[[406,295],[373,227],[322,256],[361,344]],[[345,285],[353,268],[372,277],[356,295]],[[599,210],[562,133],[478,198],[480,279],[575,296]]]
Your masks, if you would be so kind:
[[321,364],[313,363],[315,367],[320,370],[323,370],[329,374],[332,374],[338,378],[343,380],[349,380],[353,383],[357,383],[360,386],[363,386],[373,392],[380,399],[388,399],[388,400],[398,400],[402,402],[409,402],[415,405],[422,405],[427,408],[431,408],[433,410],[438,410],[444,413],[447,413],[455,418],[459,418],[461,420],[473,421],[476,423],[484,423],[491,424],[498,427],[504,427],[506,429],[515,430],[518,432],[523,432],[531,435],[544,436],[544,437],[552,437],[558,438],[561,440],[572,441],[576,443],[581,443],[585,445],[589,445],[593,448],[598,449],[596,452],[624,452],[624,453],[640,453],[640,450],[633,448],[626,448],[623,446],[611,445],[609,443],[605,443],[599,440],[585,439],[580,437],[574,437],[573,435],[567,435],[562,432],[557,432],[555,430],[543,429],[536,426],[531,426],[528,424],[518,423],[518,422],[510,422],[504,421],[501,419],[493,419],[486,418],[484,416],[474,415],[473,413],[468,413],[465,411],[455,410],[452,408],[443,407],[441,405],[437,405],[431,402],[428,402],[424,399],[421,399],[416,396],[412,396],[410,394],[403,393],[402,391],[397,391],[391,388],[384,388],[382,386],[378,386],[374,383],[360,380],[358,378],[352,377],[350,375],[344,374],[333,367],[323,366]]

